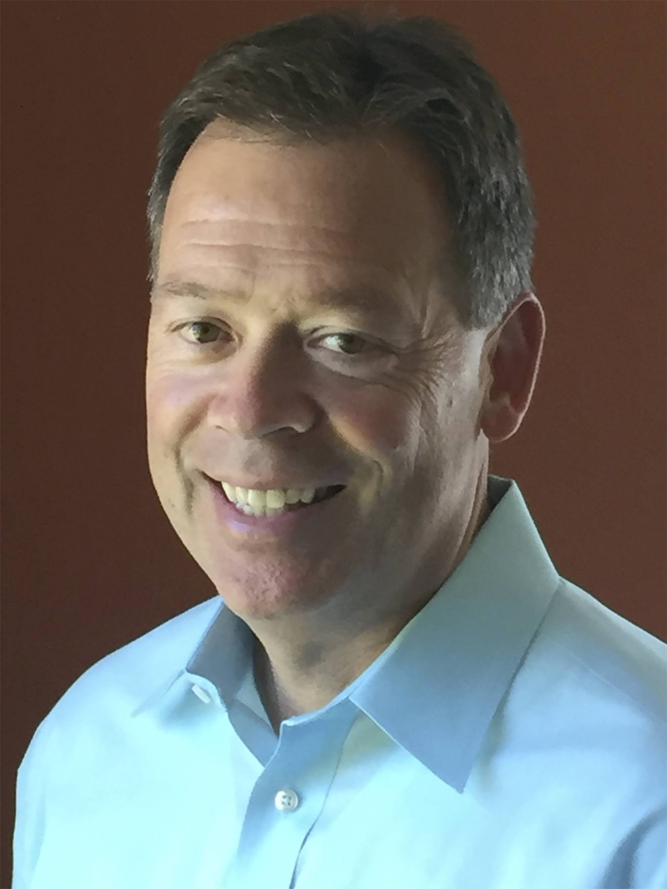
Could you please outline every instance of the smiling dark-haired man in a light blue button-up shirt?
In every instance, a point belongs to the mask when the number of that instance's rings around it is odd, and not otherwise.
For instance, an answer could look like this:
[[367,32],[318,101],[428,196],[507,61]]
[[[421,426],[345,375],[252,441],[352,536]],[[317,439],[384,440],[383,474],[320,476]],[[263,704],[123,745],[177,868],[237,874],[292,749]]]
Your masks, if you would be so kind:
[[148,451],[216,595],[20,768],[16,889],[658,889],[667,646],[488,476],[544,316],[518,135],[430,20],[222,47],[151,188]]

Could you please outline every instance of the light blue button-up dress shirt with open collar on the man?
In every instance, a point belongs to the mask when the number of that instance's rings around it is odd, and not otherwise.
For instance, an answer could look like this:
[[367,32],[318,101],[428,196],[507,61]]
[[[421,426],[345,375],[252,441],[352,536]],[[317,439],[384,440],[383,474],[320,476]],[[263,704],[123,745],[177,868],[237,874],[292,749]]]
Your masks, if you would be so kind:
[[84,673],[20,766],[14,889],[665,889],[667,645],[489,494],[438,593],[279,737],[217,596]]

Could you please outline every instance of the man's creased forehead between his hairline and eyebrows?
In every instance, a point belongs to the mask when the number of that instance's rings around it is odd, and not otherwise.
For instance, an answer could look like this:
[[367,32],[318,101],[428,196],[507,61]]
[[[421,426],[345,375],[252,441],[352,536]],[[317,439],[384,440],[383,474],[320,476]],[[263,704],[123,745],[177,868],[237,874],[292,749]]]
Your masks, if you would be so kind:
[[428,301],[452,278],[439,192],[437,173],[400,134],[285,146],[230,139],[213,124],[173,181],[158,282],[293,273]]

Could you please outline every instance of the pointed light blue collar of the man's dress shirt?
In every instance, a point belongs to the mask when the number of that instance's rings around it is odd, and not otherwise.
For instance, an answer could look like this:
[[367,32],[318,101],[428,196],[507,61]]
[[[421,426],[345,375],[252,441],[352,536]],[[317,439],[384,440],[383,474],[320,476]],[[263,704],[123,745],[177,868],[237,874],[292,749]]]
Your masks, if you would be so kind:
[[[454,573],[335,699],[349,697],[460,793],[559,585],[517,483],[489,476],[488,493],[494,509]],[[229,709],[252,646],[252,631],[221,603],[185,669],[141,709],[188,674],[204,677]]]

